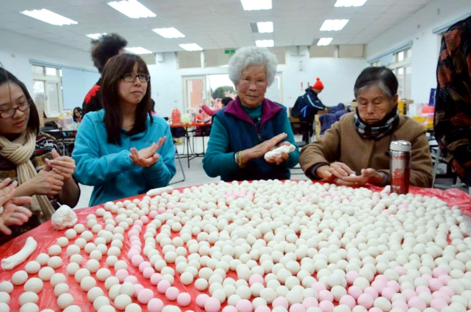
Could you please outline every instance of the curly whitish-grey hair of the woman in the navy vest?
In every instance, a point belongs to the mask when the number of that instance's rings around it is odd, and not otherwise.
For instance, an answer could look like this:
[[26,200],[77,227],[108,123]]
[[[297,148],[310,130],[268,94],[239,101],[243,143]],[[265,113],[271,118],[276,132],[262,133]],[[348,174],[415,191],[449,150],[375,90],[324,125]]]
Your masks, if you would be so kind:
[[251,65],[264,65],[266,68],[267,86],[270,86],[275,80],[276,75],[276,56],[265,48],[245,47],[237,50],[234,56],[229,60],[229,79],[237,85],[242,71]]

